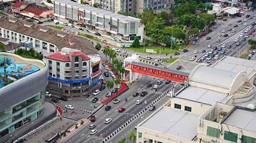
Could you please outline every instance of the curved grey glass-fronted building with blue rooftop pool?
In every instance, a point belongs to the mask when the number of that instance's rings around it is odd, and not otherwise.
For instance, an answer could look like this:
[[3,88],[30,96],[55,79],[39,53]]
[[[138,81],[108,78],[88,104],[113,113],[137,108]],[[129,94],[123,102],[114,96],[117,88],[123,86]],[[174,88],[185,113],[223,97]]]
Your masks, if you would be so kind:
[[42,114],[47,85],[47,64],[7,52],[1,52],[0,56],[1,138],[27,122],[34,122]]

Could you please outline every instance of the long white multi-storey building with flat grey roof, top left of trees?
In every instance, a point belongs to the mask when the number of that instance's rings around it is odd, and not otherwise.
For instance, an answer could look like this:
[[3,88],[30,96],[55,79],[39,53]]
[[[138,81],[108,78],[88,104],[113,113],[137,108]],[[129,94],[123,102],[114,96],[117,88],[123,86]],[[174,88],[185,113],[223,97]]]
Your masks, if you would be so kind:
[[59,21],[77,21],[88,29],[125,41],[133,41],[135,36],[141,41],[143,39],[144,27],[140,24],[140,19],[131,16],[115,14],[69,0],[55,0],[54,14]]

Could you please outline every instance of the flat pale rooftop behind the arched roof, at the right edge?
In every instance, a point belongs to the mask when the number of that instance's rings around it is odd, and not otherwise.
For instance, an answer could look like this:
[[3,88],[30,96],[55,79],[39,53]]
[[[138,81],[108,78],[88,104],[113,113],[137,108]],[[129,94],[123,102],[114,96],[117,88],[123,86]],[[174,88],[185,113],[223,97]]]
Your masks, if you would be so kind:
[[256,72],[256,61],[236,58],[233,56],[224,56],[223,59],[216,62],[214,68],[224,69],[236,73],[246,71],[247,75],[250,77]]

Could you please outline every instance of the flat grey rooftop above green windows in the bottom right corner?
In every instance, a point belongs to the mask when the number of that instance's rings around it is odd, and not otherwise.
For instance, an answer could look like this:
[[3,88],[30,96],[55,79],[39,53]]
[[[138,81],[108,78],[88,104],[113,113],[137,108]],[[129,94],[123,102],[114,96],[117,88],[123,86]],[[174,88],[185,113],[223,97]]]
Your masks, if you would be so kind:
[[246,109],[234,109],[234,112],[227,117],[224,124],[229,124],[241,129],[256,132],[256,112]]

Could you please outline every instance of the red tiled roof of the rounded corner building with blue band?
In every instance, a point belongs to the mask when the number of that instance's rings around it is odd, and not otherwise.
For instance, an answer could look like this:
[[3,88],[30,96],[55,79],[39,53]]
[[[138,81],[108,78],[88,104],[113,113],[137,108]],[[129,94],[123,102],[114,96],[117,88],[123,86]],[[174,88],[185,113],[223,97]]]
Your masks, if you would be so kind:
[[53,59],[56,61],[69,62],[70,56],[82,56],[83,61],[88,61],[90,58],[81,51],[70,51],[68,54],[63,52],[57,52],[46,56],[47,59]]

